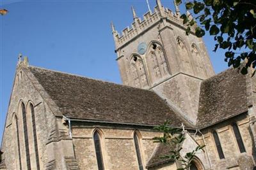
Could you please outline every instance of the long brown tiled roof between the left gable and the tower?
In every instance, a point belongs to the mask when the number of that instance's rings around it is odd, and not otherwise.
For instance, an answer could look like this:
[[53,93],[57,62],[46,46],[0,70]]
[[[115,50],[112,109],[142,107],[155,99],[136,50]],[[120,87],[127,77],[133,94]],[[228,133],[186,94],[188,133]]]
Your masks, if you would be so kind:
[[182,122],[186,124],[150,90],[28,68],[66,117],[147,125],[170,120],[171,125],[177,127]]

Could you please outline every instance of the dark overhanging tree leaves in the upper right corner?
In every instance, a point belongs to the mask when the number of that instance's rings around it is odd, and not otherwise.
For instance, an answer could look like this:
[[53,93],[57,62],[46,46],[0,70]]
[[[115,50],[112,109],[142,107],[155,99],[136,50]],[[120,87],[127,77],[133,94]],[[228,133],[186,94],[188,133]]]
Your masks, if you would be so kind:
[[[182,4],[182,0],[175,0],[175,3]],[[186,10],[195,13],[195,18],[190,13],[180,16],[187,25],[186,34],[191,32],[192,27],[199,38],[205,35],[205,31],[209,31],[216,41],[214,52],[218,48],[226,51],[228,67],[236,67],[243,74],[247,74],[248,67],[252,67],[255,74],[255,0],[186,0],[185,6]],[[196,21],[200,25],[196,25]]]

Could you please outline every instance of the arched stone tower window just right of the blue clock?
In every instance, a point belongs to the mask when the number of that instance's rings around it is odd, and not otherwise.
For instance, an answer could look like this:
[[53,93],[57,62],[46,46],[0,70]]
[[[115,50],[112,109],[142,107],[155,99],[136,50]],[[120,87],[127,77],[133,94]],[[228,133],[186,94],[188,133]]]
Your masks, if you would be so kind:
[[166,56],[159,43],[154,42],[149,46],[147,60],[153,83],[170,74]]

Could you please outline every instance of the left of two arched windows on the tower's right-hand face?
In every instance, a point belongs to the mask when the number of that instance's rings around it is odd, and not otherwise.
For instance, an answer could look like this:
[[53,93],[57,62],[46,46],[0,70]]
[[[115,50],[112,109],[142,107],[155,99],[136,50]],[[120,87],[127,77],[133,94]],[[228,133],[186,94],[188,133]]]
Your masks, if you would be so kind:
[[186,73],[193,74],[193,68],[192,68],[191,61],[189,59],[188,49],[179,38],[177,38],[177,45],[178,45],[180,59],[181,59],[184,71]]

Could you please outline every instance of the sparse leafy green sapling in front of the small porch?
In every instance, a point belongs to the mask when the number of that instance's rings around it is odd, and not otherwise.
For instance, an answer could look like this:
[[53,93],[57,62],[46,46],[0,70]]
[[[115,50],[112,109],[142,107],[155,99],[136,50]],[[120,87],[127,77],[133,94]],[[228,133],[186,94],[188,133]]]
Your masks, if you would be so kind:
[[194,159],[196,152],[202,150],[204,146],[197,146],[195,150],[186,153],[186,155],[182,157],[182,155],[180,155],[180,150],[182,150],[182,143],[185,140],[185,133],[182,132],[181,129],[170,127],[168,124],[169,122],[164,122],[163,125],[154,127],[155,130],[163,132],[163,136],[153,138],[154,142],[163,143],[164,145],[169,146],[169,154],[164,155],[162,157],[163,159],[180,161],[183,167],[177,170],[189,170],[189,167],[191,166],[191,162]]

